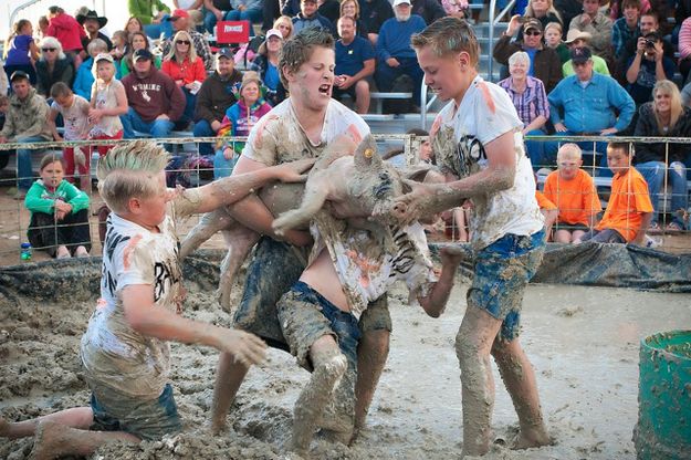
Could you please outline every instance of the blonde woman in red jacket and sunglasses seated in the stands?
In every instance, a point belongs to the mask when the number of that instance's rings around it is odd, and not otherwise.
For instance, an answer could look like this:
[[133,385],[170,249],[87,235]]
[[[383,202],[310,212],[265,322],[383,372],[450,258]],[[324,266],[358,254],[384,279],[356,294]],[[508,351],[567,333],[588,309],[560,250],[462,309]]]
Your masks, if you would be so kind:
[[203,61],[197,55],[189,32],[181,30],[175,34],[170,52],[164,59],[160,70],[170,76],[185,93],[187,103],[180,124],[188,124],[195,115],[197,92],[201,87],[201,82],[207,77]]

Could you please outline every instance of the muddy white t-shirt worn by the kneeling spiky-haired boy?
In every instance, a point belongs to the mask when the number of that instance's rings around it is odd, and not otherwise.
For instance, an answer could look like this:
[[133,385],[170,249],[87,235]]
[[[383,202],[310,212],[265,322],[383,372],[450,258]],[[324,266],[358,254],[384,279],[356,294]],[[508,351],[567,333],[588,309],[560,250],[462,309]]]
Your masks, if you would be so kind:
[[179,312],[182,301],[178,262],[179,240],[175,231],[176,205],[154,233],[112,212],[103,249],[101,299],[86,333],[81,355],[90,384],[150,400],[168,383],[170,349],[166,341],[134,331],[125,318],[125,286],[154,286],[155,309]]

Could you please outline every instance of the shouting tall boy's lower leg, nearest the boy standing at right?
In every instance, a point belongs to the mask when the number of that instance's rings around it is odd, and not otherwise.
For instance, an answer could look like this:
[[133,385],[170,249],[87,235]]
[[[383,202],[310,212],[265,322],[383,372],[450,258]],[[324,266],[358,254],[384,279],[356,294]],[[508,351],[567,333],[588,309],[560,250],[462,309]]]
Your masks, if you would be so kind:
[[379,377],[389,355],[390,333],[386,330],[365,331],[357,347],[357,379],[355,380],[355,441],[366,424],[367,411],[375,396]]

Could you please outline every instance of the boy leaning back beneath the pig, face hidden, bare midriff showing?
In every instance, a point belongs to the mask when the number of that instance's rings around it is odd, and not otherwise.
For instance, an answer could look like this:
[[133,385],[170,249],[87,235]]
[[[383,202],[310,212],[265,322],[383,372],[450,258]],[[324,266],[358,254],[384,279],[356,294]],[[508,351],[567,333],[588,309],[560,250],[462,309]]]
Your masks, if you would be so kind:
[[[365,148],[367,150],[363,151]],[[387,174],[381,169],[381,160],[368,148],[367,142],[360,144],[354,161],[360,161],[364,153],[369,158],[374,155],[376,161],[365,168],[364,175],[373,172],[369,174],[371,177],[360,178],[371,186],[369,192],[373,196],[366,197],[364,189],[358,189],[355,196],[329,192],[329,210],[317,211],[311,226],[315,240],[311,263],[276,304],[291,352],[301,366],[312,372],[294,409],[290,449],[301,456],[307,454],[317,427],[326,437],[344,443],[353,437],[360,337],[358,317],[367,305],[386,295],[391,284],[400,280],[407,284],[410,295],[417,296],[427,314],[438,317],[449,299],[461,259],[458,248],[442,250],[438,280],[419,222],[397,227],[384,220],[363,222],[369,216],[348,219],[354,217],[352,211],[362,201],[386,201],[389,194],[383,190],[395,189],[385,179]],[[368,180],[371,178],[375,180]],[[332,180],[335,179],[332,177]],[[347,187],[350,192],[357,189],[353,182],[357,179],[350,177]],[[305,197],[310,196],[311,189],[308,182]],[[308,200],[306,198],[300,209],[285,216],[306,211]],[[350,203],[352,200],[357,202]],[[348,220],[336,219],[332,212],[336,216],[343,212],[339,217]],[[274,229],[283,231],[285,220],[284,216],[274,220]]]

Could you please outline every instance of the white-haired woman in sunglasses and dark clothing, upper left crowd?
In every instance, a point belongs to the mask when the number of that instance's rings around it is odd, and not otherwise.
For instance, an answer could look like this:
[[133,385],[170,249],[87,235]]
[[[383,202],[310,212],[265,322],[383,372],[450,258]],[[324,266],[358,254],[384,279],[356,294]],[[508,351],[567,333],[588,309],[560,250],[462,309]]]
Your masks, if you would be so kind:
[[51,87],[63,82],[72,87],[74,83],[74,63],[62,51],[62,45],[53,36],[44,36],[39,42],[41,58],[36,62],[36,92],[50,100]]

